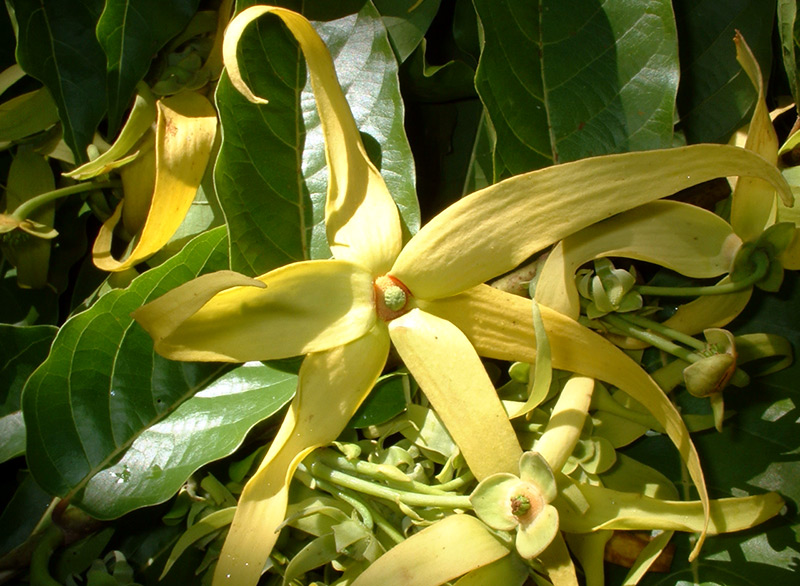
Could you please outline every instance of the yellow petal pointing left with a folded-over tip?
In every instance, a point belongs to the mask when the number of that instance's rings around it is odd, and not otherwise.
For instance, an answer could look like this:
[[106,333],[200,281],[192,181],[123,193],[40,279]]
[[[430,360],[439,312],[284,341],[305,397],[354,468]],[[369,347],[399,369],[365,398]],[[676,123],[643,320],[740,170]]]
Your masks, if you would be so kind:
[[136,310],[172,360],[247,362],[328,350],[375,324],[372,278],[345,261],[293,263],[257,279],[205,275]]

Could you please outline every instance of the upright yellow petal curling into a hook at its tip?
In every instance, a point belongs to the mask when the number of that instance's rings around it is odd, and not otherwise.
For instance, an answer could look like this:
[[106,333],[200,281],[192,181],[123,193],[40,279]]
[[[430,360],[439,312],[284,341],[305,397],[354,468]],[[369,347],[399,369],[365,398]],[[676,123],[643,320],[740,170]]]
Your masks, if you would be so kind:
[[228,26],[222,49],[231,82],[251,102],[266,103],[242,79],[236,48],[244,29],[268,13],[283,20],[308,64],[325,137],[329,173],[325,226],[331,251],[336,258],[363,264],[375,275],[384,274],[402,245],[400,215],[364,150],[328,49],[311,24],[296,12],[274,6],[253,6],[237,15]]

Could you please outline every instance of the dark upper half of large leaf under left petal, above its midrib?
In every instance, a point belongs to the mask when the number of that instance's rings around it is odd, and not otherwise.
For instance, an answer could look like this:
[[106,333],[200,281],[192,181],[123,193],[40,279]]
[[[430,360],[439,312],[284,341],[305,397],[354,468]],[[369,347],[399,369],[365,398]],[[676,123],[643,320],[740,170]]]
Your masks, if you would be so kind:
[[207,232],[67,320],[23,390],[28,465],[42,488],[72,495],[220,371],[218,364],[156,355],[130,313],[199,274],[227,268],[226,252],[224,230]]

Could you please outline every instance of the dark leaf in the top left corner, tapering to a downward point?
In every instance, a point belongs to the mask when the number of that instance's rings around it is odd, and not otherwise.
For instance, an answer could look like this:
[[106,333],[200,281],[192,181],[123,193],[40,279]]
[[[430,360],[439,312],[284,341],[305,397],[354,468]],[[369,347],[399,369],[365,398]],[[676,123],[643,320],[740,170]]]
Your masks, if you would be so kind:
[[86,161],[106,109],[106,61],[95,37],[103,0],[8,2],[19,27],[17,60],[50,90],[64,140],[76,161]]

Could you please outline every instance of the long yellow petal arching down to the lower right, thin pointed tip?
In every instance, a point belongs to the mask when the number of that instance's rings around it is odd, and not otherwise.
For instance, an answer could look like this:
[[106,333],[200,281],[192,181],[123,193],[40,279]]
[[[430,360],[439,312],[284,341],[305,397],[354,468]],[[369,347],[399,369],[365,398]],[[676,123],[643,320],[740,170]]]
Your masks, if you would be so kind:
[[[529,318],[530,303],[523,297],[481,285],[455,297],[420,302],[420,307],[461,328],[481,356],[533,362],[536,340]],[[689,431],[653,379],[599,334],[547,307],[542,307],[541,311],[550,340],[553,368],[606,381],[639,401],[663,425],[678,448],[700,499],[707,506],[703,470]],[[701,535],[698,539],[692,556],[699,553],[704,537]]]

